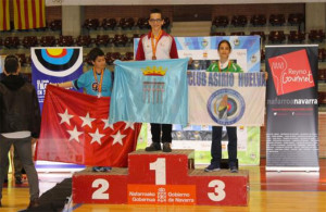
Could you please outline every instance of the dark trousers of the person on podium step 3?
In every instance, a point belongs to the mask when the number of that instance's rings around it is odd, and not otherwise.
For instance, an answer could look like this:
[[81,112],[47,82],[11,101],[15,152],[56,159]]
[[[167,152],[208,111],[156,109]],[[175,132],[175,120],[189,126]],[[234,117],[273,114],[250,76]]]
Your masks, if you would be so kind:
[[[213,135],[212,135],[212,146],[211,146],[211,154],[212,160],[211,163],[221,163],[222,159],[222,126],[213,126]],[[237,127],[227,126],[227,136],[228,136],[228,163],[229,165],[235,165],[237,161]]]

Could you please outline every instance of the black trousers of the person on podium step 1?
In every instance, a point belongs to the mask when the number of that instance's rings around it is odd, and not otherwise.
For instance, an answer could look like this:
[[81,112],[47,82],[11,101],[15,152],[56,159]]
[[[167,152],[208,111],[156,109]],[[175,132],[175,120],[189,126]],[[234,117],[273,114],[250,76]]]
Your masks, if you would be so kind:
[[[161,138],[162,132],[162,138]],[[153,142],[172,142],[172,124],[151,123],[151,133]]]

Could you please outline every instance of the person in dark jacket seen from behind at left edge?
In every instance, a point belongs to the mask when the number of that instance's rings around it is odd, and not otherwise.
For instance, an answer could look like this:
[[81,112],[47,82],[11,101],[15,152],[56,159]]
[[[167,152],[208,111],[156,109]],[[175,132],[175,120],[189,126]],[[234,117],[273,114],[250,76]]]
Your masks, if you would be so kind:
[[[4,180],[8,152],[13,145],[26,171],[30,202],[28,209],[39,205],[38,176],[32,159],[32,139],[40,132],[40,110],[36,90],[18,75],[15,55],[4,60],[5,78],[0,83],[0,199]],[[1,205],[1,203],[0,203]]]

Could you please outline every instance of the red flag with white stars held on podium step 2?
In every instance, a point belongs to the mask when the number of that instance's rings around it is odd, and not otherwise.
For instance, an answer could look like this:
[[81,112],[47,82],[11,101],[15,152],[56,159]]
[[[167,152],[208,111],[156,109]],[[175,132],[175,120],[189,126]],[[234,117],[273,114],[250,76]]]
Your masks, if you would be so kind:
[[49,85],[37,160],[99,166],[127,166],[140,124],[109,124],[110,97],[98,98]]

